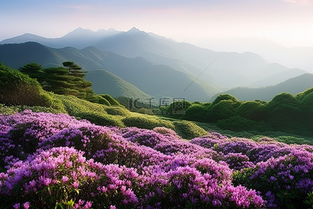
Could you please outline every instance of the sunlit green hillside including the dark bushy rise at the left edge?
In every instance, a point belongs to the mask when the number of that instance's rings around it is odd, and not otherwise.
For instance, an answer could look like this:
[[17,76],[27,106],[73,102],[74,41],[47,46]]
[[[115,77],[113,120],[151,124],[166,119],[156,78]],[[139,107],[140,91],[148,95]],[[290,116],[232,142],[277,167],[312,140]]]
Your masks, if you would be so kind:
[[[11,78],[11,79],[8,79]],[[15,97],[13,97],[13,95]],[[26,96],[21,96],[26,95]],[[192,139],[207,134],[195,123],[189,121],[168,121],[157,116],[149,116],[129,111],[110,95],[103,95],[109,104],[97,104],[81,100],[72,95],[58,95],[43,91],[40,84],[19,70],[0,65],[0,114],[14,114],[31,109],[65,113],[79,119],[86,119],[97,125],[117,127],[140,127],[152,130],[154,127],[168,127],[177,131],[184,139]]]

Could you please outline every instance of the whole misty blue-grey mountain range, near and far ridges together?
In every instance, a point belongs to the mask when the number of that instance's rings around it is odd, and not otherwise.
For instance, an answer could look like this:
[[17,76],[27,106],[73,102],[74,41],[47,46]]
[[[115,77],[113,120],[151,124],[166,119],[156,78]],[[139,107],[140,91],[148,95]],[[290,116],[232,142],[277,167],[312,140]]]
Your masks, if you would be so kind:
[[[252,52],[215,52],[136,28],[126,32],[79,28],[61,38],[26,33],[0,44],[0,62],[12,68],[30,62],[47,68],[74,61],[88,70],[86,78],[97,93],[114,96],[207,101],[230,88],[275,85],[306,73]],[[120,85],[113,87],[107,77]]]

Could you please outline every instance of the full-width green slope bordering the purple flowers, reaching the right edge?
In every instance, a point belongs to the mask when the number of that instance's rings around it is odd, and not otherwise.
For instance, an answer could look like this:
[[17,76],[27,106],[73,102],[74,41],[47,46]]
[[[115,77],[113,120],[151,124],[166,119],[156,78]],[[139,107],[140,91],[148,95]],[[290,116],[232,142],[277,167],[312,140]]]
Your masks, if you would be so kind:
[[257,141],[260,137],[271,137],[277,141],[287,144],[310,144],[313,145],[313,137],[301,137],[297,135],[286,134],[284,132],[257,132],[245,131],[234,132],[230,130],[222,130],[212,123],[200,123],[184,121],[175,118],[166,118],[161,116],[150,116],[138,114],[129,111],[125,107],[116,105],[106,106],[81,100],[74,96],[56,95],[48,93],[54,99],[51,107],[6,107],[0,104],[0,114],[14,114],[24,109],[32,109],[33,111],[45,111],[56,113],[70,114],[81,119],[87,119],[97,125],[113,125],[118,127],[140,127],[145,129],[153,129],[154,127],[168,127],[175,130],[184,139],[193,139],[200,137],[209,132],[220,132],[227,137],[246,137]]

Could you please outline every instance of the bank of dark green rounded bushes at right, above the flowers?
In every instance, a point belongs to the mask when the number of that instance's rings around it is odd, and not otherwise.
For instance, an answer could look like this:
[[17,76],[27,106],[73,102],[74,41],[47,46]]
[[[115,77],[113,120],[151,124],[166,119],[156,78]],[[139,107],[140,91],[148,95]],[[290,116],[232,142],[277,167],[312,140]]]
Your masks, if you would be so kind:
[[313,134],[312,104],[313,88],[296,97],[280,93],[271,102],[239,102],[234,96],[223,94],[218,95],[213,103],[193,102],[181,118],[216,123],[218,127],[232,131],[277,130],[310,136]]

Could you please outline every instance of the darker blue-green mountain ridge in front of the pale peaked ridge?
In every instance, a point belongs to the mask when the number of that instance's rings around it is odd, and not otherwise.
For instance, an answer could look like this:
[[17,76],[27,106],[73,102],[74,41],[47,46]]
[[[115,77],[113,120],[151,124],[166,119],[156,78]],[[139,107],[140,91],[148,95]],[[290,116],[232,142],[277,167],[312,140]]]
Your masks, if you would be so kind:
[[[136,86],[147,95],[163,95],[170,98],[186,98],[191,101],[206,101],[220,91],[215,86],[203,84],[199,81],[193,82],[194,77],[167,65],[154,65],[141,57],[128,58],[112,52],[103,52],[95,47],[54,49],[40,45],[37,42],[0,45],[0,62],[9,65],[11,68],[19,68],[31,62],[38,63],[43,68],[48,68],[60,66],[63,61],[68,60],[74,61],[83,70],[90,71],[90,75],[87,74],[86,77],[90,82],[93,82],[92,88],[97,93],[116,91],[113,90],[114,86],[104,88],[102,85],[106,84],[99,82],[99,79],[106,80],[106,77],[99,78],[99,76],[107,75],[107,73],[98,72],[97,76],[91,76],[96,75],[94,72],[91,73],[91,70],[108,70],[113,75]],[[184,91],[191,83],[192,85]],[[99,89],[106,89],[106,92],[100,92]],[[115,93],[112,94],[116,95]],[[136,95],[142,95],[142,93],[136,93]]]

